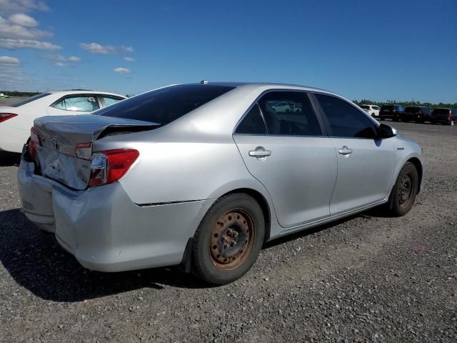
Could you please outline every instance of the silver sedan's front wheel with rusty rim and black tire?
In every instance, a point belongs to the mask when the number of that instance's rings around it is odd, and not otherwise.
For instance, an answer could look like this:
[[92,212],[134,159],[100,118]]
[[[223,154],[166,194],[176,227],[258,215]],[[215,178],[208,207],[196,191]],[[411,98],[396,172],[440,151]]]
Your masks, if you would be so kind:
[[391,196],[388,199],[387,212],[391,217],[401,217],[409,212],[416,199],[419,177],[416,166],[406,164],[398,174]]

